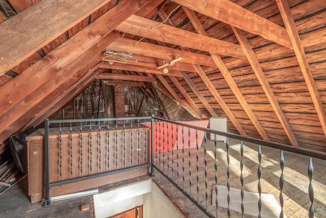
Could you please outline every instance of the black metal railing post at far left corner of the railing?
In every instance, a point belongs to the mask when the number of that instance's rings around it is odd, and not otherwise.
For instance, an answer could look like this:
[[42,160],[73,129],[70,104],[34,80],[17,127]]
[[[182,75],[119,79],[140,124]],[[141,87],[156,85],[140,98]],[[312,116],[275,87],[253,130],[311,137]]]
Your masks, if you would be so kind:
[[45,119],[44,122],[44,185],[45,185],[45,199],[42,207],[48,207],[51,204],[49,196],[49,119]]

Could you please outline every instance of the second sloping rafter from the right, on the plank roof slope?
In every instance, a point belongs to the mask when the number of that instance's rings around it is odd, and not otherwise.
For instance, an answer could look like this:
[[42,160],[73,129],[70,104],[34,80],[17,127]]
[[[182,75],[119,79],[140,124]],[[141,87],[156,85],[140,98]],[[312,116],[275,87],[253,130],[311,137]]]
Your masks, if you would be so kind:
[[280,108],[280,105],[276,99],[276,96],[275,96],[273,90],[271,89],[262,68],[260,67],[260,64],[255,56],[254,51],[251,48],[251,45],[249,44],[249,41],[247,40],[246,36],[244,35],[244,33],[241,30],[239,30],[235,27],[232,27],[232,30],[233,30],[235,36],[237,37],[240,45],[243,47],[243,52],[244,52],[244,54],[247,55],[249,63],[252,66],[252,68],[255,72],[255,75],[256,75],[261,87],[263,88],[271,107],[273,107],[287,137],[289,138],[292,146],[297,147],[298,143],[295,138],[295,135],[294,135],[289,123],[287,122],[287,119],[286,119],[282,109]]

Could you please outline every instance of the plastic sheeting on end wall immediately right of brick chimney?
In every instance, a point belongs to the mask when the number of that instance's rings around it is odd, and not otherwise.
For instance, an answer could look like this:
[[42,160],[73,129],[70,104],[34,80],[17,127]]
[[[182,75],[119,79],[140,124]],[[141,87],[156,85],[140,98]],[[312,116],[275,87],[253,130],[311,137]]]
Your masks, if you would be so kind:
[[142,103],[144,92],[139,87],[124,87],[124,102],[125,102],[125,113],[128,117],[137,116],[138,110],[141,106],[141,110],[138,116],[154,116],[161,117],[162,110],[159,106],[159,103],[156,102],[153,98],[145,96],[145,99]]

